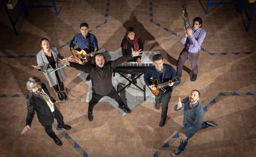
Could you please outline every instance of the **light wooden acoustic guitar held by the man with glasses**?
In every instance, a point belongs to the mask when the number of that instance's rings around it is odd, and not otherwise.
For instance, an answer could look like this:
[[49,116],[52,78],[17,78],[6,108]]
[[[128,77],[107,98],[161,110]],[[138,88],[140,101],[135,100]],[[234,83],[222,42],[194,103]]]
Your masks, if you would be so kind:
[[89,50],[88,49],[74,49],[74,53],[75,53],[75,56],[77,56],[80,61],[78,62],[79,64],[85,64],[86,62],[89,62],[91,60],[90,56],[91,54],[95,55],[97,53],[104,53],[106,52],[106,49],[103,47],[101,49],[99,49],[98,51],[96,52],[91,52],[89,53]]

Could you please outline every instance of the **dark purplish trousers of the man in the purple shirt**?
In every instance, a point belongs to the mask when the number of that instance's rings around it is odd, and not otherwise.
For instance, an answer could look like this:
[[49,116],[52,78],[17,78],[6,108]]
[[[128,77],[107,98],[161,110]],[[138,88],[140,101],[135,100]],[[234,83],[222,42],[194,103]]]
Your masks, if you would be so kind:
[[199,53],[189,54],[187,52],[188,51],[184,48],[180,53],[180,57],[178,58],[178,65],[177,65],[178,77],[181,77],[182,68],[187,59],[190,60],[193,75],[197,75],[197,73],[198,73],[197,60],[199,59]]

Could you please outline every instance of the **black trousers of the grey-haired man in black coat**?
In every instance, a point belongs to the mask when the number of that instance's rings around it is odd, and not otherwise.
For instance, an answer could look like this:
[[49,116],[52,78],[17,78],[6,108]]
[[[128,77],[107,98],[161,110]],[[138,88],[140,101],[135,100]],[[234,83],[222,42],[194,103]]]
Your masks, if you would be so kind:
[[[53,111],[53,117],[55,119],[57,119],[57,123],[59,126],[63,126],[64,122],[63,122],[63,115],[55,108],[55,111]],[[49,137],[51,138],[55,138],[56,134],[53,132],[53,125],[47,125],[44,127],[44,130],[46,130],[46,133]]]

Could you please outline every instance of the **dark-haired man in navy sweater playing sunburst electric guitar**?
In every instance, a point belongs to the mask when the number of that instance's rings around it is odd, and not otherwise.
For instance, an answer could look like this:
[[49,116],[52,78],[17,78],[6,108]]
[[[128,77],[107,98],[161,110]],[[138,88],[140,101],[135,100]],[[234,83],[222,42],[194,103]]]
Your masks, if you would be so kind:
[[[144,74],[144,81],[149,88],[155,90],[156,87],[154,85],[150,85],[150,78],[153,80],[159,79],[161,83],[168,82],[172,80],[175,76],[177,76],[176,70],[169,64],[164,64],[164,57],[161,54],[153,55],[153,66],[151,66],[146,73]],[[177,83],[169,83],[164,87],[166,90],[165,93],[162,93],[159,97],[155,97],[155,108],[160,109],[160,105],[162,107],[161,112],[161,121],[159,126],[162,127],[165,125],[168,104],[171,99],[171,93],[173,90],[173,86],[177,86],[180,82]]]

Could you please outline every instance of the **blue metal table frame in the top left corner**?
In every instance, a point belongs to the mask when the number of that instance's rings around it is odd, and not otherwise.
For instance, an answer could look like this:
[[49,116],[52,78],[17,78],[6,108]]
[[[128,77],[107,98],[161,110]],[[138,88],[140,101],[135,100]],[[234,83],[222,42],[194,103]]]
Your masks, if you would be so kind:
[[9,13],[9,11],[8,11],[8,8],[7,8],[7,5],[6,5],[6,1],[5,1],[5,0],[2,0],[2,4],[3,4],[3,6],[4,6],[4,8],[5,8],[5,11],[6,11],[6,13],[7,13],[7,16],[8,16],[8,18],[9,18],[10,22],[11,22],[11,26],[12,26],[12,28],[14,29],[14,33],[15,33],[17,36],[18,36],[18,32],[17,32],[17,30],[16,30],[16,28],[15,28],[15,25],[17,24],[18,19],[20,18],[22,12],[24,13],[25,17],[28,16],[28,13],[27,13],[26,8],[54,8],[54,10],[55,10],[55,15],[58,16],[58,12],[57,12],[57,8],[56,8],[56,5],[55,5],[54,0],[52,0],[53,5],[46,5],[46,6],[40,6],[40,5],[39,5],[39,6],[26,6],[26,5],[24,4],[23,0],[19,0],[19,2],[20,2],[20,4],[21,4],[21,9],[20,9],[20,11],[18,12],[18,15],[16,16],[15,20],[13,21],[12,18],[11,18],[10,13]]

